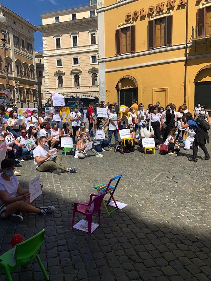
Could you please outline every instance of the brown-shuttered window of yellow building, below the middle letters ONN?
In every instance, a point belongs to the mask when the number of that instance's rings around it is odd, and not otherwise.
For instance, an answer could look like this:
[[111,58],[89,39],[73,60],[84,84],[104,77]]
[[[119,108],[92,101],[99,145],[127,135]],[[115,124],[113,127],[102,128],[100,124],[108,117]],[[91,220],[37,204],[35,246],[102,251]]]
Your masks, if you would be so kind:
[[172,15],[149,21],[148,49],[172,45]]

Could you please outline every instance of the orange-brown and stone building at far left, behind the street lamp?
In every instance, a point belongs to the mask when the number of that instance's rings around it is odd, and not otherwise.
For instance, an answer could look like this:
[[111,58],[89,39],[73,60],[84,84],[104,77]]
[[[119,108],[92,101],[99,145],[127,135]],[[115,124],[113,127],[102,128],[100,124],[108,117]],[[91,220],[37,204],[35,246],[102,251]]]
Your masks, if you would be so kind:
[[[6,61],[11,103],[17,107],[37,106],[37,76],[34,52],[34,32],[37,28],[11,10],[3,7],[6,23],[0,23],[6,32]],[[0,88],[6,90],[4,48],[0,40]]]

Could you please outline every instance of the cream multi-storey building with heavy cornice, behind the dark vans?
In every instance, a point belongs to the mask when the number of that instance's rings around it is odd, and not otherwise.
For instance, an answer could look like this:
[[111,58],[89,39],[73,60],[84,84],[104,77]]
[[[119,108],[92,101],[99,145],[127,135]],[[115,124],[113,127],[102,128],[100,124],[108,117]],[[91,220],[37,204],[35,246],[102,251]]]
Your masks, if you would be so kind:
[[99,97],[96,7],[92,1],[41,15],[46,100],[51,91]]

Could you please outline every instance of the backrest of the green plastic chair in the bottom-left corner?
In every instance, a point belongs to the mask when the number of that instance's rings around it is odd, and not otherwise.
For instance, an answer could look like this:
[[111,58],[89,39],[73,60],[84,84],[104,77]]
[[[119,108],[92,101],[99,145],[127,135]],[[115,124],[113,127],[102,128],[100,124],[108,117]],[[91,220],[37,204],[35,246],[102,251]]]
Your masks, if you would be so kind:
[[15,259],[17,266],[23,264],[23,262],[29,262],[33,260],[37,254],[40,253],[40,248],[43,244],[45,235],[45,229],[35,234],[31,238],[27,239],[16,245]]

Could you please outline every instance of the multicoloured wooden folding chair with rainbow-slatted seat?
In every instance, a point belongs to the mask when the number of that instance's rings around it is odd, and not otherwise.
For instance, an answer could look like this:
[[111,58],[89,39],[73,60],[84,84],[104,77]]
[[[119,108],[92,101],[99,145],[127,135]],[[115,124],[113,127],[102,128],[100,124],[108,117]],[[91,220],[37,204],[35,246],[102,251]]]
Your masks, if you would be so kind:
[[[114,192],[115,192],[115,190],[116,190],[116,188],[117,188],[117,186],[118,186],[118,183],[119,183],[121,177],[122,177],[122,175],[118,175],[118,176],[116,176],[116,177],[110,179],[110,181],[109,181],[108,184],[101,183],[101,184],[99,184],[99,185],[93,187],[94,189],[97,190],[98,193],[103,192],[103,193],[106,193],[106,194],[107,194],[107,193],[110,194],[110,198],[109,198],[107,204],[105,204],[105,202],[102,201],[102,203],[103,203],[103,205],[104,205],[104,208],[106,209],[106,212],[107,212],[108,216],[110,216],[110,214],[111,214],[113,211],[115,211],[115,210],[118,209],[117,203],[116,203],[116,201],[115,201],[113,195],[114,195]],[[111,186],[111,185],[110,185],[113,180],[117,180],[115,186]],[[114,202],[116,208],[114,208],[112,211],[109,212],[107,206],[108,206],[108,204],[110,203],[111,199],[113,200],[113,202]]]

